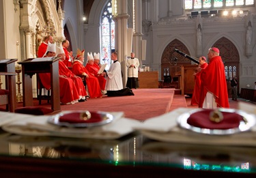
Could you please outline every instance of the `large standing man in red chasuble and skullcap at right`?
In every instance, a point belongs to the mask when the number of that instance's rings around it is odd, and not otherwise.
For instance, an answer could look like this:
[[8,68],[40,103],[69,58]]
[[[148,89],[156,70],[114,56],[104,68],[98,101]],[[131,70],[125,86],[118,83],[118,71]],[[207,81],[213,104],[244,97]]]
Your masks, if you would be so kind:
[[225,68],[218,48],[208,51],[208,67],[201,72],[199,108],[229,108]]

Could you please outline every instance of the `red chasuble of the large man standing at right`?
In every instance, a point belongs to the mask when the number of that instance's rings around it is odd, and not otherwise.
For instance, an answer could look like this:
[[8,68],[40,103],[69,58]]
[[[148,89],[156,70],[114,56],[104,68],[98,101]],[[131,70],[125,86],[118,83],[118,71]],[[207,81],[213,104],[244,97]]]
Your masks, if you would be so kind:
[[203,101],[207,92],[210,92],[215,96],[217,107],[229,108],[225,68],[220,56],[210,59],[208,67],[201,72],[199,108],[203,106]]

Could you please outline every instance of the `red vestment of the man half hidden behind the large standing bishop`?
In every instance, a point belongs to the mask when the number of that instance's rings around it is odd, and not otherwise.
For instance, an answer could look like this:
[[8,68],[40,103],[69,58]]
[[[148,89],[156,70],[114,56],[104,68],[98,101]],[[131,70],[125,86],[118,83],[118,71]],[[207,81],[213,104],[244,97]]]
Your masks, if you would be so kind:
[[201,87],[201,72],[203,72],[203,69],[205,69],[208,66],[208,63],[203,63],[200,67],[202,68],[202,70],[200,72],[197,72],[197,74],[195,75],[195,87],[194,87],[194,91],[193,91],[193,95],[191,98],[191,105],[198,105],[199,104],[199,100],[200,100],[200,87]]

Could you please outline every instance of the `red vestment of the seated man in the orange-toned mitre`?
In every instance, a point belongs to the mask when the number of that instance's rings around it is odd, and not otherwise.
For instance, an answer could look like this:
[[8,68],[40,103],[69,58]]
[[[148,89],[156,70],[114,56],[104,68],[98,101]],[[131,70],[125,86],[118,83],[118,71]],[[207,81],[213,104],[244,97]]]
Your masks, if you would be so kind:
[[72,66],[72,72],[77,76],[82,76],[83,72],[89,75],[89,77],[85,78],[86,85],[89,91],[89,95],[91,98],[100,98],[102,97],[102,93],[100,90],[100,84],[98,82],[98,78],[93,76],[90,72],[86,70],[83,66],[83,63],[79,60],[74,60]]

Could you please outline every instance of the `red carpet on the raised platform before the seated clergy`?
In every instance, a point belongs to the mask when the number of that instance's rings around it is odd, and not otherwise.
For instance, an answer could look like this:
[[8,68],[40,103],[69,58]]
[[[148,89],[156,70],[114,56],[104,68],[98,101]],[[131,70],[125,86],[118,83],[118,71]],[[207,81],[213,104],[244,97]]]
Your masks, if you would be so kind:
[[[131,96],[103,96],[103,98],[89,98],[85,102],[72,105],[61,105],[61,110],[123,111],[125,117],[139,120],[156,117],[171,110],[174,89],[133,89],[132,91],[134,95]],[[22,103],[18,104],[18,107],[22,106]],[[34,101],[34,106],[38,106],[38,100]],[[46,100],[42,100],[41,106],[51,108]]]

